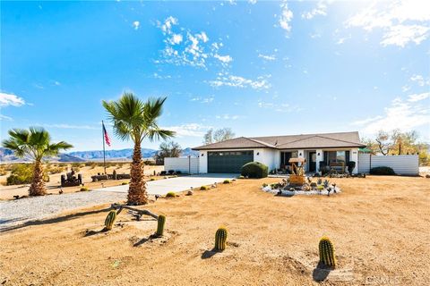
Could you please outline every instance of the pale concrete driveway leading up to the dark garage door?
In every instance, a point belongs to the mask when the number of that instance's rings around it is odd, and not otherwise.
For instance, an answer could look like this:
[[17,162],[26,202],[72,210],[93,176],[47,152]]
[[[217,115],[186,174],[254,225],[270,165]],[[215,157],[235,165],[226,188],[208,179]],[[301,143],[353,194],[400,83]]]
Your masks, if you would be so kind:
[[[186,189],[200,188],[203,185],[211,185],[214,182],[222,182],[226,179],[231,180],[237,177],[232,173],[205,173],[170,179],[161,179],[157,181],[148,181],[148,193],[150,195],[166,195],[169,191],[179,192]],[[97,190],[106,190],[113,192],[128,192],[128,185],[107,187]]]

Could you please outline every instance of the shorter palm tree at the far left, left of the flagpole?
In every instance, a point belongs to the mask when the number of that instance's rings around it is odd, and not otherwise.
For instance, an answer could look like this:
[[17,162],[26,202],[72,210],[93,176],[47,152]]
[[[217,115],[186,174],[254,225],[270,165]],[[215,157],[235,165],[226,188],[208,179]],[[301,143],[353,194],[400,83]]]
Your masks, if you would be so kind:
[[45,181],[43,181],[43,157],[56,156],[60,150],[73,146],[64,141],[52,143],[49,133],[43,128],[13,129],[8,133],[10,138],[3,141],[3,147],[13,150],[15,156],[29,156],[34,161],[33,180],[29,189],[30,196],[46,195],[47,189]]

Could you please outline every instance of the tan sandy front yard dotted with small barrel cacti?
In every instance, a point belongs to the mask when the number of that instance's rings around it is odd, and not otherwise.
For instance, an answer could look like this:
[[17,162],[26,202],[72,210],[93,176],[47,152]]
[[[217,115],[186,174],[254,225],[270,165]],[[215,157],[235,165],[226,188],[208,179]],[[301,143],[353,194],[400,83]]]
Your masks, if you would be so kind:
[[[159,198],[156,221],[119,214],[101,232],[106,206],[0,234],[5,285],[429,285],[430,179],[333,179],[326,196],[273,197],[262,182],[239,180],[193,196]],[[228,248],[211,252],[219,225]],[[323,272],[318,241],[327,235],[339,266]]]

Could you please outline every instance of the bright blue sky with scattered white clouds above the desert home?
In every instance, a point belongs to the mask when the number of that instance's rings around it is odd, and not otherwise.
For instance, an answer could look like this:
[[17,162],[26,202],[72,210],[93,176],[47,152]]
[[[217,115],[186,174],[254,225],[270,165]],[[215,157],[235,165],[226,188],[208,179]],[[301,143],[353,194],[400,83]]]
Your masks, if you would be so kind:
[[426,1],[2,2],[0,136],[100,149],[101,100],[133,91],[168,97],[159,124],[182,147],[222,127],[430,141],[429,36]]

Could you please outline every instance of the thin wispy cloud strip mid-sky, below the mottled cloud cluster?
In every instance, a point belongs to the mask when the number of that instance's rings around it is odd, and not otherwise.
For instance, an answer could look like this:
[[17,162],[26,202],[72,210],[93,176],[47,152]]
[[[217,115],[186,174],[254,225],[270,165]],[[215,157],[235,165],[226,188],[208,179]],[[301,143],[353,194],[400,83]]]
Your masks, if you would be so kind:
[[233,88],[265,89],[271,87],[268,78],[270,78],[270,76],[258,77],[257,80],[249,80],[244,77],[219,72],[217,79],[209,81],[209,84],[214,88],[226,86]]

